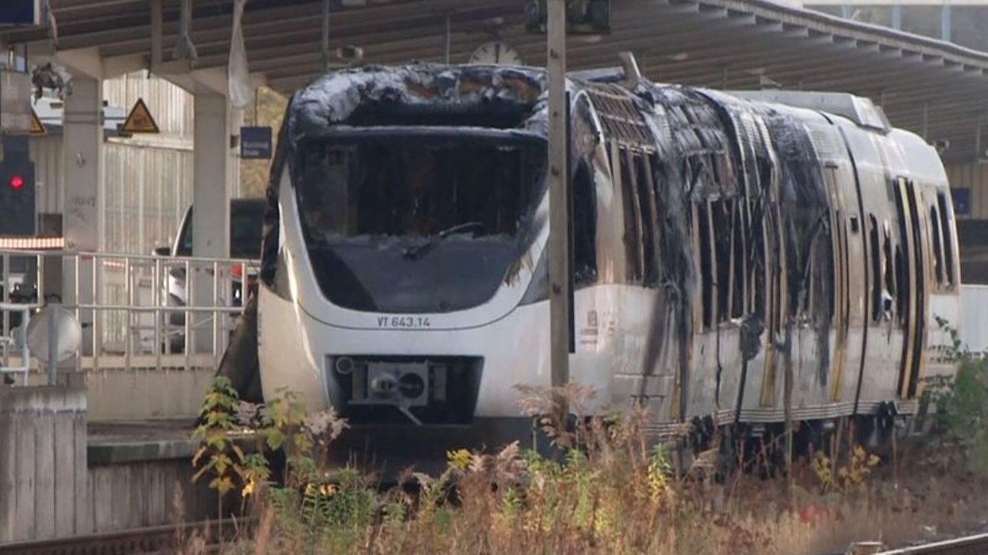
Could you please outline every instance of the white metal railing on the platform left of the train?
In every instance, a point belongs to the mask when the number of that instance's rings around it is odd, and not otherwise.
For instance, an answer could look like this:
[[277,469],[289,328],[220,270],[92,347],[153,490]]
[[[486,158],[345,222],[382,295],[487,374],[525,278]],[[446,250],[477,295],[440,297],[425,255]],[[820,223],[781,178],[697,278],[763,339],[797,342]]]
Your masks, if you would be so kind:
[[[215,367],[259,269],[242,259],[63,251],[0,250],[0,262],[0,337],[10,338],[16,313],[30,318],[57,299],[83,326],[77,370]],[[5,351],[0,364],[12,359]]]

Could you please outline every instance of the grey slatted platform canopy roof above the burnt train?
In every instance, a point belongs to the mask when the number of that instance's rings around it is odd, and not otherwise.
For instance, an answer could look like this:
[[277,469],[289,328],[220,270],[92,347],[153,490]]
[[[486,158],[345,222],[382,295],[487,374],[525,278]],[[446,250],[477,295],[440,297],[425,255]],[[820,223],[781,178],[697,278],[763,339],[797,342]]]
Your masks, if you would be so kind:
[[[15,30],[0,40],[103,77],[153,65],[187,88],[223,90],[233,1],[187,1],[192,59],[174,55],[182,0],[50,0],[56,34]],[[525,63],[541,65],[544,37],[526,33],[524,21],[522,0],[333,0],[331,61],[344,63],[336,48],[354,45],[363,48],[360,63],[464,62],[484,42],[500,40]],[[321,73],[322,22],[322,0],[247,2],[243,29],[255,83],[289,92]],[[893,124],[947,139],[947,160],[985,157],[976,148],[988,109],[983,52],[760,0],[614,0],[612,32],[571,37],[569,65],[613,66],[621,50],[635,52],[660,82],[864,95]]]

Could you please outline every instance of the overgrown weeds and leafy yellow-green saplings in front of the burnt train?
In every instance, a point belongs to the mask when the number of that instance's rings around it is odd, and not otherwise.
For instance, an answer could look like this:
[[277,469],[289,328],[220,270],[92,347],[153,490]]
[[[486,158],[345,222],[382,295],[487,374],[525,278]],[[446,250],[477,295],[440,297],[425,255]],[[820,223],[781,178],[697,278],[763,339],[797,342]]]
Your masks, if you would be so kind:
[[[867,496],[785,506],[771,482],[752,478],[756,484],[746,487],[736,479],[728,488],[674,472],[666,445],[646,438],[644,411],[565,419],[556,412],[563,405],[587,414],[589,390],[531,388],[526,413],[552,438],[551,449],[518,442],[495,451],[453,449],[438,474],[409,469],[398,486],[383,489],[370,474],[330,462],[328,449],[346,428],[331,411],[307,415],[288,391],[262,406],[237,403],[222,385],[204,410],[225,415],[213,421],[227,433],[252,431],[254,449],[231,460],[240,468],[241,494],[259,516],[258,531],[227,553],[774,554],[833,550],[834,543],[806,539],[825,526],[845,534],[842,541],[862,533],[858,523],[867,523],[866,533],[885,529],[875,527],[868,506],[848,509],[847,500],[872,499],[877,457],[861,447],[843,466],[817,455],[813,468],[825,491],[867,489]],[[277,476],[269,462],[275,447],[287,455]],[[717,501],[728,491],[736,496]],[[835,497],[845,505],[835,506]]]

